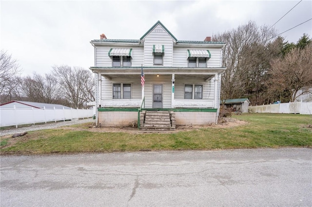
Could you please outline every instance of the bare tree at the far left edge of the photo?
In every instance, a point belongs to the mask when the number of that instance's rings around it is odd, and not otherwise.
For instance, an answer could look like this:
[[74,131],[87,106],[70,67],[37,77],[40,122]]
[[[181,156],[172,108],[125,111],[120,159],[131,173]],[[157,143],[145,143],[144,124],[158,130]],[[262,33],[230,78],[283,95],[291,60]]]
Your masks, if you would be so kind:
[[12,55],[0,52],[0,94],[7,96],[12,92],[13,81],[20,75],[21,69]]

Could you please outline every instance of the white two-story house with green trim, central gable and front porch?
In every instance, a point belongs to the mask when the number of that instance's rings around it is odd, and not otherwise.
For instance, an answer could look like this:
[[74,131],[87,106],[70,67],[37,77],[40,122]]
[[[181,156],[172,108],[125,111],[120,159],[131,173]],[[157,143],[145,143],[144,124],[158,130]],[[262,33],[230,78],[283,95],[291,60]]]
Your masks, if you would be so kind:
[[148,111],[174,114],[172,126],[217,121],[225,43],[210,37],[177,40],[160,21],[140,39],[107,39],[102,34],[90,43],[101,126],[138,121],[140,127],[140,113]]

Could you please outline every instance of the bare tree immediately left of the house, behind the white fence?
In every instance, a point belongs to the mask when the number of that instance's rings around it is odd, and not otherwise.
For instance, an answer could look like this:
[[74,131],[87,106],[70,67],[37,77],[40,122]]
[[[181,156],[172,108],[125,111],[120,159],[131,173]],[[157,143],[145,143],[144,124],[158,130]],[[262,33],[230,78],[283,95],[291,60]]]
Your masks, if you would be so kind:
[[95,100],[91,71],[78,67],[54,66],[52,74],[58,78],[60,92],[72,107],[83,107],[87,102]]

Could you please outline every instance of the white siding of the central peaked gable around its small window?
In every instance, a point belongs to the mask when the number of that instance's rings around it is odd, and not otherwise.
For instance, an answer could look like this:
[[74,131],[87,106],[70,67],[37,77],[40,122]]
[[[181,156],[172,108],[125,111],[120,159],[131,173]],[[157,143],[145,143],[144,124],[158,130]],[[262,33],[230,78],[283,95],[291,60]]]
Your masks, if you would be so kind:
[[163,66],[172,67],[173,38],[160,25],[144,38],[144,66],[154,66],[153,45],[164,45]]

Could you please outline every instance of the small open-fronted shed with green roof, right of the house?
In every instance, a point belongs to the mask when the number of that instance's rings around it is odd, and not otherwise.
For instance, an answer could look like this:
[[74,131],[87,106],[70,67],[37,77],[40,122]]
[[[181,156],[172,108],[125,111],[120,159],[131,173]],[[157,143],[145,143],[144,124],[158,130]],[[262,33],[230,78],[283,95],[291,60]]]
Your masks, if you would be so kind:
[[224,104],[224,109],[233,110],[234,112],[248,113],[248,106],[250,101],[248,98],[242,99],[226,99],[223,100],[221,105]]

